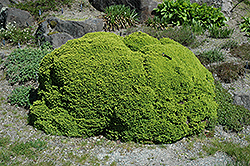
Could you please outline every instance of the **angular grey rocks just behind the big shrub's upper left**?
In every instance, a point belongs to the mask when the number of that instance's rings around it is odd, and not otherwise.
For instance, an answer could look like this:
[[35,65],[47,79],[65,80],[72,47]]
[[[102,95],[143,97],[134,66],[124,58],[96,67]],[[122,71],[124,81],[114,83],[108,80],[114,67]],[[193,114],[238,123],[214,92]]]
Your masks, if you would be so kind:
[[79,38],[86,33],[97,32],[102,29],[102,19],[91,18],[85,21],[65,21],[51,17],[39,24],[35,36],[41,44],[48,41],[54,48],[58,48],[70,39]]

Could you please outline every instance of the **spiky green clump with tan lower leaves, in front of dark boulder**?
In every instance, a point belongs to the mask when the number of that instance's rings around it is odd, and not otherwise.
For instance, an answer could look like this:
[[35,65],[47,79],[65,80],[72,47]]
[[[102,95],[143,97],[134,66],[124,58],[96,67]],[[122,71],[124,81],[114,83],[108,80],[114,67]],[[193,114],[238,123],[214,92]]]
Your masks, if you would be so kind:
[[135,26],[138,20],[138,14],[135,10],[125,5],[108,6],[105,11],[104,30],[115,31],[119,29],[126,29]]

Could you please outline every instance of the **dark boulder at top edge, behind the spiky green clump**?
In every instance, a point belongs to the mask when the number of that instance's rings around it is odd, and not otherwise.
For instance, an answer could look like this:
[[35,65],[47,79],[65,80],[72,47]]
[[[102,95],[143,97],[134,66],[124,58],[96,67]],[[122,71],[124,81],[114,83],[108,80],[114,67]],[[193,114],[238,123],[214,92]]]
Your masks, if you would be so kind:
[[89,0],[90,4],[99,11],[111,5],[126,5],[131,9],[135,9],[140,15],[141,22],[151,17],[151,12],[157,7],[159,2],[154,0]]

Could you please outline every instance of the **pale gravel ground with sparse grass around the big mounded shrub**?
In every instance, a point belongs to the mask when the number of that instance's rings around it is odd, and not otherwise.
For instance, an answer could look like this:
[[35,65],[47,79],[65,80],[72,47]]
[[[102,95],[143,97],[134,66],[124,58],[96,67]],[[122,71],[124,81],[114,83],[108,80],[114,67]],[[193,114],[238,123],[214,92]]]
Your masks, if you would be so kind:
[[[76,4],[77,5],[77,4]],[[63,18],[77,19],[82,15],[65,11]],[[92,12],[91,12],[92,11]],[[94,9],[86,9],[86,17],[98,12]],[[52,15],[58,13],[52,13]],[[68,15],[67,15],[68,14]],[[235,14],[237,17],[238,12]],[[237,17],[238,18],[238,17]],[[237,19],[230,22],[230,26],[235,26]],[[203,37],[200,37],[203,40]],[[247,37],[235,30],[232,38],[239,43],[249,42]],[[203,46],[192,49],[194,53],[218,47],[227,39],[209,39]],[[13,49],[0,50],[0,57],[5,58]],[[228,53],[227,50],[223,50]],[[227,60],[234,60],[227,54]],[[1,66],[2,67],[2,66]],[[243,79],[244,80],[244,79]],[[227,89],[234,86],[235,91],[249,93],[249,82],[239,80],[232,84],[223,84]],[[239,133],[225,132],[222,126],[216,126],[214,137],[206,137],[203,133],[199,136],[183,138],[182,140],[163,145],[141,145],[136,143],[122,143],[120,141],[107,140],[103,136],[91,138],[69,138],[64,136],[46,135],[43,131],[27,124],[28,110],[11,106],[7,102],[7,97],[14,87],[10,86],[5,79],[5,73],[0,70],[0,138],[9,137],[10,147],[16,142],[28,142],[41,140],[47,143],[46,148],[38,152],[35,159],[27,157],[11,156],[9,164],[13,165],[20,161],[18,165],[227,165],[232,163],[233,158],[223,152],[208,155],[204,146],[209,146],[213,140],[230,141],[238,143],[239,146],[247,146],[249,142],[246,138],[250,137],[250,126],[245,127]],[[246,89],[245,89],[246,88]],[[235,91],[232,91],[233,94]],[[235,92],[236,93],[236,92]],[[1,150],[1,147],[0,147]],[[35,153],[35,152],[34,152]],[[1,153],[0,153],[1,155]],[[1,165],[1,160],[0,160]]]

